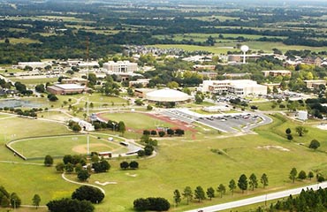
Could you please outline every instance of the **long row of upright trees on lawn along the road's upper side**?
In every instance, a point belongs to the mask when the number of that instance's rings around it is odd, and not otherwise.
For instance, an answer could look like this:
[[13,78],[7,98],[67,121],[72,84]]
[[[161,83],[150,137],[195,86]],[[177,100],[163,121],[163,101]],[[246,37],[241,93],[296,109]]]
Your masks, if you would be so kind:
[[[265,173],[262,174],[262,177],[260,178],[260,182],[263,188],[268,186],[269,184],[268,176]],[[244,191],[248,189],[248,186],[251,188],[252,191],[254,191],[255,188],[258,187],[258,185],[259,185],[259,180],[256,178],[254,173],[251,174],[251,176],[248,179],[245,174],[242,174],[238,182],[232,179],[229,182],[228,188],[233,195],[234,190],[237,187],[239,187],[242,193],[244,193]],[[202,186],[197,186],[194,189],[194,191],[190,186],[186,186],[183,190],[183,193],[180,193],[179,190],[176,189],[173,193],[173,199],[176,206],[178,206],[179,203],[182,201],[182,196],[184,199],[186,199],[187,204],[193,199],[196,199],[200,202],[207,199],[207,197],[211,201],[212,198],[216,197],[215,191],[217,191],[217,193],[219,193],[220,198],[222,198],[223,195],[226,193],[226,186],[224,186],[223,184],[219,184],[216,190],[213,187],[209,187],[206,192],[204,191]]]

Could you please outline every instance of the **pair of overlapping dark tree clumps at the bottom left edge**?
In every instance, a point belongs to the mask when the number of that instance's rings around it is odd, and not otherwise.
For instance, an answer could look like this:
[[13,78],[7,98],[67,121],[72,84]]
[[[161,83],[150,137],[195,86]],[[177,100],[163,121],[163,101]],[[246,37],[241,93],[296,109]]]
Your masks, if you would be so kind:
[[51,212],[93,212],[92,203],[103,201],[104,193],[93,186],[80,186],[72,193],[72,198],[49,201],[47,207]]

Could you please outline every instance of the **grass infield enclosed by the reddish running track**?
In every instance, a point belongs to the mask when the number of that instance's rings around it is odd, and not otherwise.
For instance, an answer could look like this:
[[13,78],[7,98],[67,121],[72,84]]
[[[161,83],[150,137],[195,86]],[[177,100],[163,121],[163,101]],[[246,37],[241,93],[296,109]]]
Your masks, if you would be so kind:
[[173,127],[171,123],[164,122],[155,117],[149,117],[143,113],[125,112],[125,113],[102,113],[100,117],[113,121],[123,121],[127,128],[135,130],[151,130],[156,126]]

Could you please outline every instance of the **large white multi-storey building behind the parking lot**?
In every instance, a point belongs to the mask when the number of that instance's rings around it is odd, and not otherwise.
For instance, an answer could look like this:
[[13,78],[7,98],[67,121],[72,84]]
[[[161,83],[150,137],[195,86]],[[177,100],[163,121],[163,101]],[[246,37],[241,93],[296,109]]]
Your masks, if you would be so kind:
[[203,80],[199,90],[214,94],[225,93],[239,96],[267,95],[266,86],[258,85],[256,81],[250,79]]

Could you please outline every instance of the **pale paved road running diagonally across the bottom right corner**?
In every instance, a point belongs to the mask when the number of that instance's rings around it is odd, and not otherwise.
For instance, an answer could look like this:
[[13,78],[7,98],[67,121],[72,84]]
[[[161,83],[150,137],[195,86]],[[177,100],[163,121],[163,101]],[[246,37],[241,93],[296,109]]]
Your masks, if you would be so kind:
[[288,197],[290,194],[292,194],[292,195],[299,194],[302,189],[306,190],[307,188],[308,189],[312,188],[313,190],[317,190],[319,187],[326,188],[327,182],[323,182],[323,183],[312,185],[312,186],[303,186],[300,188],[289,189],[289,190],[286,190],[283,192],[278,192],[278,193],[268,193],[268,194],[264,194],[261,196],[247,198],[247,199],[244,199],[241,201],[231,201],[231,202],[218,204],[218,205],[214,205],[214,206],[209,206],[209,207],[205,207],[205,208],[197,208],[197,209],[193,209],[193,210],[188,210],[186,212],[198,212],[198,211],[214,212],[214,211],[219,211],[219,210],[224,210],[224,209],[238,208],[238,207],[252,205],[255,203],[259,203],[259,202],[277,200],[280,198]]

